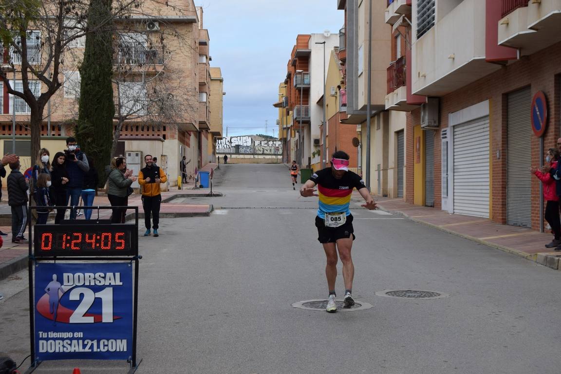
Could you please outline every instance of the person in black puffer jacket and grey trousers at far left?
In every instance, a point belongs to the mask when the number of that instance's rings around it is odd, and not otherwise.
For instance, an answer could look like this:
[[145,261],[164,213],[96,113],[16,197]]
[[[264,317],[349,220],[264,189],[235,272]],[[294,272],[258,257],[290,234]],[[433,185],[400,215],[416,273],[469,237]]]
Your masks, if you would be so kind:
[[24,238],[27,225],[27,190],[29,186],[20,172],[20,161],[10,163],[12,170],[8,176],[8,205],[12,208],[12,243],[27,243]]

